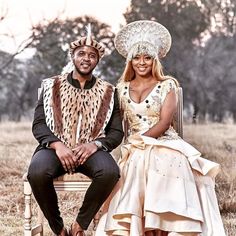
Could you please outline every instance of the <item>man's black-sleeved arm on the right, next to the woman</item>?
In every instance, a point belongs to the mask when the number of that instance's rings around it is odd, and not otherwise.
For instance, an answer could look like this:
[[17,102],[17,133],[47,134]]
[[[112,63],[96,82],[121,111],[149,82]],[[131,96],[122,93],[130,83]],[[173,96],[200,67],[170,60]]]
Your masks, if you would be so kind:
[[107,149],[107,151],[112,151],[119,146],[124,136],[117,90],[114,94],[114,108],[111,119],[106,127],[105,132],[106,137],[97,138],[96,140],[102,143],[104,149]]

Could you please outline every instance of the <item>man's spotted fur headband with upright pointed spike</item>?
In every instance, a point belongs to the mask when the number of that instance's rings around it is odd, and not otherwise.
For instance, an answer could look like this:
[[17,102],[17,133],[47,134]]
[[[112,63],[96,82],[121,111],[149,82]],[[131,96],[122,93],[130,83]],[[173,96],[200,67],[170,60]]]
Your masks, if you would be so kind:
[[105,53],[105,47],[103,46],[103,44],[101,44],[101,43],[97,42],[95,39],[93,39],[90,24],[88,24],[86,29],[87,29],[87,35],[86,36],[80,37],[79,39],[77,39],[77,40],[70,43],[70,54],[72,55],[74,50],[77,47],[90,46],[90,47],[95,48],[98,51],[99,58],[101,58]]

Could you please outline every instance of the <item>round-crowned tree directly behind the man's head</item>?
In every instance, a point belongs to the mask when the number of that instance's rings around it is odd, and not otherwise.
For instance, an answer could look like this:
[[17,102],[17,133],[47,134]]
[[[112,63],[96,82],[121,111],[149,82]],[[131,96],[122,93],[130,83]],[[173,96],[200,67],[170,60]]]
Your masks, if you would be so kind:
[[37,40],[32,47],[36,49],[34,59],[40,62],[40,79],[60,74],[68,62],[69,43],[85,36],[85,27],[91,23],[92,33],[108,49],[114,48],[110,26],[89,16],[62,21],[54,19],[48,24],[39,24],[33,28]]

